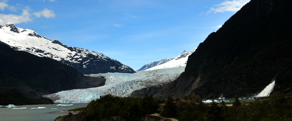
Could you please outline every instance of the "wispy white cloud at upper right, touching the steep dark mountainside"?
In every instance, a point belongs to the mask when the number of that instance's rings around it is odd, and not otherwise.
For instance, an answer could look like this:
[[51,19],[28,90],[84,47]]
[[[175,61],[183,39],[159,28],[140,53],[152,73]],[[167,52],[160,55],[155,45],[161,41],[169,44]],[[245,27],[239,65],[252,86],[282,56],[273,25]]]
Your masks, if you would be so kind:
[[240,10],[242,6],[247,4],[250,0],[233,0],[233,1],[228,1],[225,0],[224,2],[214,5],[215,7],[211,7],[209,11],[206,14],[201,14],[201,15],[208,15],[211,12],[213,13],[224,13],[224,12],[237,12]]

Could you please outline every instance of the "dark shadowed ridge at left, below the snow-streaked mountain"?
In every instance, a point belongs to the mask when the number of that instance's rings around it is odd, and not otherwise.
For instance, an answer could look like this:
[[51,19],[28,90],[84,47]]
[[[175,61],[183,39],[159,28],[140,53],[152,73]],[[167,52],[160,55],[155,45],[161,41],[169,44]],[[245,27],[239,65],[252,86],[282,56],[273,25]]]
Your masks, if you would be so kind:
[[[22,95],[41,98],[59,91],[103,86],[103,77],[84,76],[76,69],[0,43],[0,91],[14,89]],[[12,91],[12,93],[15,91]],[[13,94],[12,94],[13,95]],[[9,95],[0,95],[8,96]],[[7,97],[0,97],[7,98]]]

